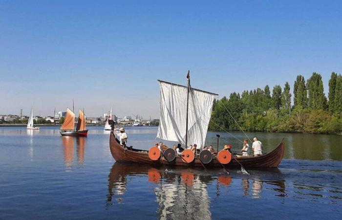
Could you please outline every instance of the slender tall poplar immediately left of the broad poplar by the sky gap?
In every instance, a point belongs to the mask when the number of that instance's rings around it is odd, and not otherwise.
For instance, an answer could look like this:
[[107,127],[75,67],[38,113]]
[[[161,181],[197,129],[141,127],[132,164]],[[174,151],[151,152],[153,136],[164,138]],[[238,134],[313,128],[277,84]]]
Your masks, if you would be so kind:
[[294,107],[305,109],[307,107],[307,91],[305,79],[302,75],[298,75],[293,87]]

